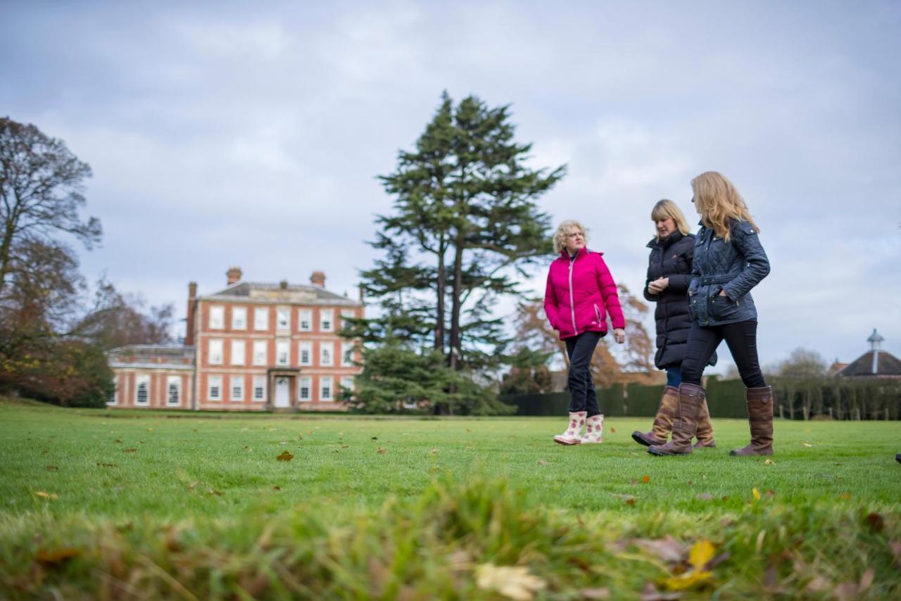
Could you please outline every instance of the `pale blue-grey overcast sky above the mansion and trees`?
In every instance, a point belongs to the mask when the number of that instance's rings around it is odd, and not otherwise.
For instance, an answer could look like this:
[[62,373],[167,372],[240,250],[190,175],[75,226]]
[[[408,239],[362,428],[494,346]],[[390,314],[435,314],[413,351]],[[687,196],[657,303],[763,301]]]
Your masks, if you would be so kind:
[[[901,356],[899,2],[0,2],[0,114],[94,170],[80,251],[184,316],[225,270],[356,295],[378,184],[446,89],[512,105],[542,199],[641,290],[651,206],[733,180],[772,264],[760,360]],[[544,273],[527,283],[543,291]],[[649,327],[652,322],[649,319]],[[721,349],[721,355],[724,349]],[[725,353],[724,369],[728,363]]]

